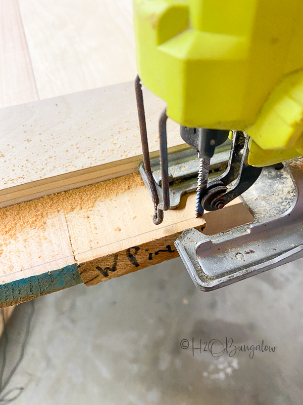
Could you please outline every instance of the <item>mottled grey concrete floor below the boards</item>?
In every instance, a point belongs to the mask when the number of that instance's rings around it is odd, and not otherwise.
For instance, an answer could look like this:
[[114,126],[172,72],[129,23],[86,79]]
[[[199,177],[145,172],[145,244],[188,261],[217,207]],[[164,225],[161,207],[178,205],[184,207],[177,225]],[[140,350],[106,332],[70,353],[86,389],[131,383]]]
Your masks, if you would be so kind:
[[[7,388],[24,387],[13,403],[301,404],[302,267],[299,260],[203,293],[175,259],[38,298],[24,359]],[[8,327],[9,367],[31,308],[19,305]],[[214,357],[195,350],[192,356],[192,338],[204,348],[226,337],[236,346],[264,339],[277,349],[255,351],[252,359],[239,351]]]

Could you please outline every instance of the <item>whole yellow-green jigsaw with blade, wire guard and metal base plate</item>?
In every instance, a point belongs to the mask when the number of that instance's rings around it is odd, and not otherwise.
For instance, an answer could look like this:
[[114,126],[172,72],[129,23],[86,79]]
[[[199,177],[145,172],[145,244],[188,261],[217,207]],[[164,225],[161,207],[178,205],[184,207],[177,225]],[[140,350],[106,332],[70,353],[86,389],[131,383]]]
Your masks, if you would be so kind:
[[[161,223],[163,211],[170,208],[168,117],[180,124],[181,137],[200,159],[196,216],[204,210],[222,209],[239,195],[246,195],[243,198],[249,207],[256,190],[263,200],[271,201],[266,218],[257,218],[257,210],[250,207],[254,223],[237,229],[233,236],[210,239],[191,229],[185,231],[190,247],[184,235],[176,241],[201,289],[222,287],[303,256],[298,209],[301,175],[293,165],[281,164],[303,155],[302,22],[302,0],[134,0],[136,95],[146,184],[155,203],[154,222]],[[150,169],[142,84],[167,103],[159,121],[160,199]],[[210,182],[211,159],[228,136],[232,138],[228,167]],[[290,176],[296,197],[283,197],[282,204],[275,193],[269,196],[265,189],[273,181],[282,184],[283,176]],[[287,207],[278,209],[275,218],[270,215],[274,198],[277,205]],[[294,223],[290,225],[290,218],[299,227],[295,237],[291,236]],[[261,232],[265,226],[268,234]],[[285,235],[284,241],[279,239],[281,229],[285,234],[289,229],[289,239]],[[271,248],[272,243],[278,248]],[[260,244],[263,250],[258,248]],[[241,249],[254,255],[248,260]],[[237,261],[239,257],[243,259]],[[222,266],[223,272],[217,274],[214,266]]]

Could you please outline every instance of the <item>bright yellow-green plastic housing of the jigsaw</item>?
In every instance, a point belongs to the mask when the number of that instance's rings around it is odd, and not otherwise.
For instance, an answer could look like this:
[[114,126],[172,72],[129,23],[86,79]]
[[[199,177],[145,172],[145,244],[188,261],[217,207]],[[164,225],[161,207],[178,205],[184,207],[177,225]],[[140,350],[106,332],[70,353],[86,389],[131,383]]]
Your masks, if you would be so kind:
[[250,164],[281,161],[303,153],[302,22],[302,0],[134,0],[138,72],[177,123],[246,131]]

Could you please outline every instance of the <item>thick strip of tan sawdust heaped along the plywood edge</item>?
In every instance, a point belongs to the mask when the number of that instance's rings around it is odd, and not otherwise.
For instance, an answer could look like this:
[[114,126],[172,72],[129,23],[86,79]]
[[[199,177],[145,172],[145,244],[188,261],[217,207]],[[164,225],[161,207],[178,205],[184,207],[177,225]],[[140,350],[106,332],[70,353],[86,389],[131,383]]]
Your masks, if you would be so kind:
[[3,208],[0,210],[1,238],[2,240],[10,239],[28,228],[43,230],[46,220],[59,212],[68,214],[75,210],[89,209],[94,206],[96,201],[103,201],[143,184],[140,174],[132,173],[117,179],[46,195],[26,203]]

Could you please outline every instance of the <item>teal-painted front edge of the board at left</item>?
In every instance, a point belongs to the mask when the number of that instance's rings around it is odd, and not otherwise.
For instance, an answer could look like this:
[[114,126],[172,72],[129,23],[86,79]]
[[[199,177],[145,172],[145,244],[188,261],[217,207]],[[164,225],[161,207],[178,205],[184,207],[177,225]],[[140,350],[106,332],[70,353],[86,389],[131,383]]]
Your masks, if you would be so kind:
[[0,308],[73,287],[81,282],[82,278],[75,263],[59,270],[8,282],[0,285]]

